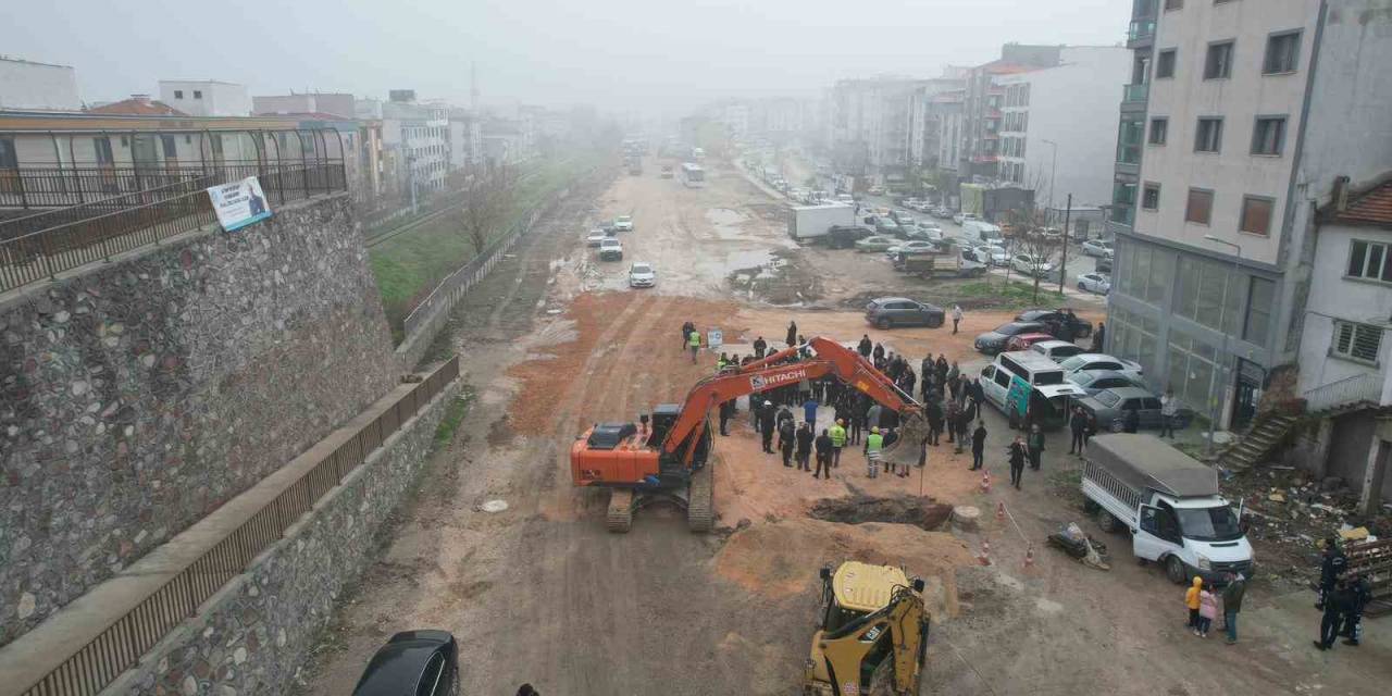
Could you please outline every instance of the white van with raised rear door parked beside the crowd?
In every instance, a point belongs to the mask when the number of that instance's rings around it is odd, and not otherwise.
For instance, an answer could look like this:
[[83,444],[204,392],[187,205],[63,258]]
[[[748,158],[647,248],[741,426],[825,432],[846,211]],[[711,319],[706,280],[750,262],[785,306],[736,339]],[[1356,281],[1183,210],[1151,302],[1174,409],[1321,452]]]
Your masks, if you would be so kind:
[[981,369],[981,394],[1012,423],[1029,419],[1044,430],[1062,427],[1073,400],[1086,397],[1066,370],[1031,351],[1002,352]]

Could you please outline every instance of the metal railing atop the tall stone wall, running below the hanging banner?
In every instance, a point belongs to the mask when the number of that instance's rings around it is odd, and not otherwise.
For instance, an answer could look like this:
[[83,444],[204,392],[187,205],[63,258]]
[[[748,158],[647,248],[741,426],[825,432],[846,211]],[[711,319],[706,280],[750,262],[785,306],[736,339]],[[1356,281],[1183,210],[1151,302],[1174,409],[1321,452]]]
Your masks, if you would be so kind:
[[273,203],[348,189],[341,160],[224,166],[149,191],[6,220],[0,292],[212,224],[217,217],[205,189],[251,175]]

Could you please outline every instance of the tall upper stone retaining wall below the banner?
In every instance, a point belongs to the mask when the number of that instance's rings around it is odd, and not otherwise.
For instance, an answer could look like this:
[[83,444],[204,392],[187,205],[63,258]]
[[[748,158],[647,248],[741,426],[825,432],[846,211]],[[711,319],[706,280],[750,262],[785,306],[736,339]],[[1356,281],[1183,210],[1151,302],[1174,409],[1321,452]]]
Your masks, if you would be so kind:
[[0,644],[381,397],[347,195],[0,298]]

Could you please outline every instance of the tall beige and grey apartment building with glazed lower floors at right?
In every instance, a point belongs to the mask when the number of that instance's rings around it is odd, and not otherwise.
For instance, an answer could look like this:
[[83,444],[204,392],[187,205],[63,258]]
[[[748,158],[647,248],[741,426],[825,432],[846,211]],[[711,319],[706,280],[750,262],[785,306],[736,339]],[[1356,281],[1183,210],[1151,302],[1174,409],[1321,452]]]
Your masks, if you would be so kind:
[[1272,370],[1296,362],[1306,298],[1329,281],[1317,209],[1336,181],[1392,168],[1382,4],[1133,4],[1108,348],[1219,429],[1247,426]]

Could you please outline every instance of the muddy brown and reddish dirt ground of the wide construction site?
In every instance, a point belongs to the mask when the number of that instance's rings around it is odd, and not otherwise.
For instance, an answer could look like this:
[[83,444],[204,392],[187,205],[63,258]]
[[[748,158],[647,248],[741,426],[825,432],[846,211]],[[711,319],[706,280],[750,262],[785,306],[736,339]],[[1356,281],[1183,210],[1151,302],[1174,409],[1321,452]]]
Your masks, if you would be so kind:
[[[587,425],[679,401],[710,373],[713,356],[693,365],[681,351],[683,322],[722,329],[736,352],[757,335],[780,342],[796,320],[806,335],[867,333],[976,369],[984,359],[972,337],[1009,317],[972,310],[958,335],[869,330],[856,302],[913,296],[887,263],[798,248],[775,202],[734,170],[713,166],[696,191],[649,170],[562,206],[457,310],[444,345],[464,356],[473,408],[381,561],[338,607],[305,693],[348,693],[393,632],[444,628],[461,642],[462,693],[511,695],[526,681],[548,696],[792,695],[817,569],[851,558],[928,579],[924,693],[1385,693],[1382,626],[1370,625],[1360,649],[1318,653],[1313,597],[1278,594],[1258,578],[1242,642],[1229,647],[1183,631],[1182,590],[1129,561],[1125,537],[1109,539],[1109,572],[1045,548],[1048,532],[1082,521],[1054,493],[1077,465],[1062,436],[1022,491],[997,477],[983,493],[969,455],[945,443],[908,479],[869,480],[848,451],[831,480],[814,480],[761,454],[742,412],[715,450],[718,533],[692,535],[682,514],[649,508],[631,533],[608,535],[606,496],[571,486],[568,447]],[[585,231],[618,213],[636,223],[622,237],[625,262],[600,263]],[[657,288],[626,288],[632,260],[657,266]],[[984,419],[995,475],[1009,430],[994,411]],[[496,498],[508,509],[479,509]],[[862,504],[864,518],[846,512]],[[983,511],[979,532],[941,525],[935,505],[962,504]]]

